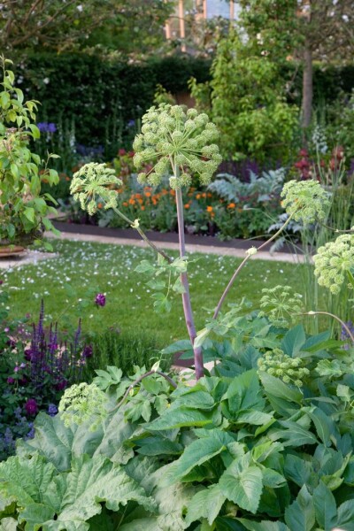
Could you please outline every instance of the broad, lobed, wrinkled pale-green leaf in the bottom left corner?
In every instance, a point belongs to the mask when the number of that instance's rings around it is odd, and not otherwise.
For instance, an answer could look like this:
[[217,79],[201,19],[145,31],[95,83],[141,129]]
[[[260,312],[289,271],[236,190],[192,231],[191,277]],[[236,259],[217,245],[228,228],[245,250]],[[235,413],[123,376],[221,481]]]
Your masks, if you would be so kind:
[[0,489],[16,499],[26,531],[87,531],[87,520],[101,512],[102,502],[112,511],[130,500],[155,509],[144,489],[103,456],[75,458],[70,473],[55,473],[40,456],[4,463]]

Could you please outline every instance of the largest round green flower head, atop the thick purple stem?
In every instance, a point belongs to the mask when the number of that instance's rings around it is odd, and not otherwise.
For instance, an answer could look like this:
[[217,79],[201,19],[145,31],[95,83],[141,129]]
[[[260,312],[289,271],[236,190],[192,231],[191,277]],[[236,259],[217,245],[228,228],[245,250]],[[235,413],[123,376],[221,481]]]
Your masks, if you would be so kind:
[[197,173],[201,184],[209,184],[221,162],[217,127],[205,113],[196,109],[185,111],[180,105],[160,104],[151,107],[142,117],[142,133],[135,137],[134,163],[139,169],[144,163],[156,162],[149,173],[139,173],[141,184],[157,186],[165,173],[173,171],[173,189],[189,186]]

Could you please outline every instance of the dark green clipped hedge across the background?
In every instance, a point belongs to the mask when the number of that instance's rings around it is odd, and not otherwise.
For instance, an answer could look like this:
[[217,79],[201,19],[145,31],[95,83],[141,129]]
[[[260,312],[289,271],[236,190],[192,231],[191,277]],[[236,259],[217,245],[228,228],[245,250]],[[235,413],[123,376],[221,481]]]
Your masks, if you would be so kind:
[[[150,107],[157,84],[173,94],[188,90],[189,78],[210,79],[210,59],[174,55],[142,64],[103,61],[80,53],[36,53],[18,65],[18,81],[27,96],[41,102],[38,121],[70,128],[76,142],[104,146],[112,158],[119,147],[129,149],[139,119]],[[293,66],[284,78],[293,77]],[[296,73],[296,103],[301,98],[301,72]],[[314,65],[314,105],[331,103],[340,91],[354,87],[354,65]],[[294,93],[294,90],[293,90]],[[133,124],[133,120],[135,124]]]

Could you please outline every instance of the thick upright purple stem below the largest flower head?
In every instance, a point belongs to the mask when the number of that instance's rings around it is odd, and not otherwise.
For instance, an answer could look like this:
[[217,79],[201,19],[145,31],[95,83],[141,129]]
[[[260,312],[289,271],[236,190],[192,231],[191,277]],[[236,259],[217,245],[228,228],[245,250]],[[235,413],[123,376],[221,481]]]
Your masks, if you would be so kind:
[[[177,171],[178,169],[175,169],[175,172]],[[186,256],[186,242],[184,239],[183,200],[182,200],[181,189],[176,189],[176,205],[177,205],[178,235],[179,235],[179,241],[180,241],[180,257],[183,258]],[[194,342],[196,340],[196,327],[194,324],[192,305],[190,304],[189,280],[188,280],[187,273],[181,273],[181,283],[184,288],[184,293],[182,293],[184,319],[186,320],[186,326],[188,329],[190,342],[193,345],[194,365],[196,369],[196,380],[199,380],[199,378],[204,376],[203,353],[202,353],[202,347],[194,346]]]

